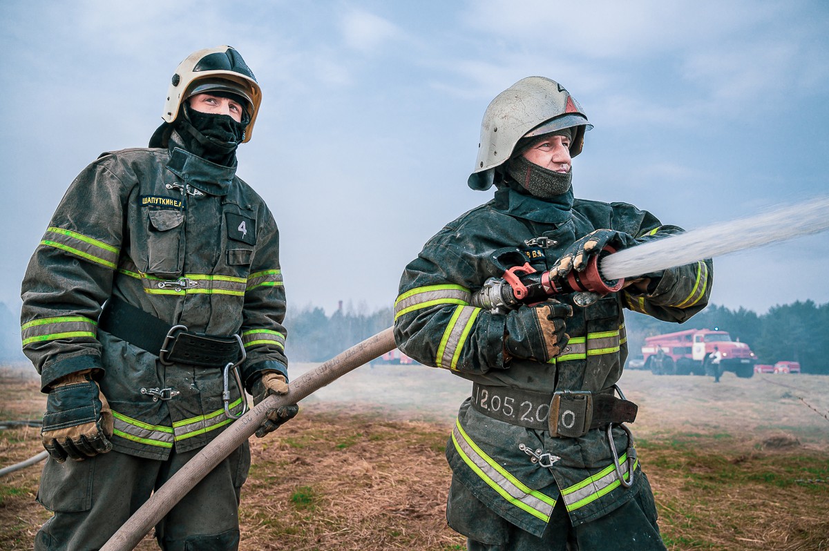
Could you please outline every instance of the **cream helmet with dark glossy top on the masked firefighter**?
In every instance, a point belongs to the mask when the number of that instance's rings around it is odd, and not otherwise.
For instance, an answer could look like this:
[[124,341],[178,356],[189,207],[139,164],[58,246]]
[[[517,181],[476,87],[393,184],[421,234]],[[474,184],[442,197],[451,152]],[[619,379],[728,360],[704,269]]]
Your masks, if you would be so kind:
[[230,46],[194,51],[178,64],[167,91],[162,118],[167,123],[172,123],[184,100],[211,91],[230,92],[245,99],[249,122],[245,127],[243,142],[249,142],[259,104],[262,103],[262,90],[259,89],[253,71],[239,52]]

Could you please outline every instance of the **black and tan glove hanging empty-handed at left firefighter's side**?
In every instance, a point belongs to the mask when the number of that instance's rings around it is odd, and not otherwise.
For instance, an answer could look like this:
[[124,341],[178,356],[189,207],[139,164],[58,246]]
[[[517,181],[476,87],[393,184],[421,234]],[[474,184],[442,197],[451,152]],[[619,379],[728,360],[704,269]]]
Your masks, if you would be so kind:
[[109,452],[112,430],[112,411],[90,370],[65,375],[51,385],[41,437],[56,462]]

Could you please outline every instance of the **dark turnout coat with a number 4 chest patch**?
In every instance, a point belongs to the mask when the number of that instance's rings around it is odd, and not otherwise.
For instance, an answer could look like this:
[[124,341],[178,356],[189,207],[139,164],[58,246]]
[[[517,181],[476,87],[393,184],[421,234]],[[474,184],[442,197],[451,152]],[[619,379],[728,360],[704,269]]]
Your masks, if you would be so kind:
[[[118,297],[169,326],[239,335],[244,384],[287,377],[279,230],[234,167],[169,147],[106,152],[72,182],[22,283],[22,344],[45,390],[97,370],[114,416],[113,449],[166,460],[205,446],[232,419],[221,367],[162,365],[98,326]],[[138,329],[137,329],[138,331]],[[149,393],[155,389],[161,393]],[[230,411],[243,392],[230,377]]]

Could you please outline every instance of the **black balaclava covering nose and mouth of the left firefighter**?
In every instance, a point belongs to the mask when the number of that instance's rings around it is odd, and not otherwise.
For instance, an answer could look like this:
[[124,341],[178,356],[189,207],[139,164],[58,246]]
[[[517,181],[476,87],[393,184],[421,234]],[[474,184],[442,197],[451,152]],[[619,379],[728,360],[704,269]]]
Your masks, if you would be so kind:
[[[219,91],[208,93],[245,105],[245,101],[235,94]],[[179,115],[173,125],[182,137],[187,151],[217,165],[233,166],[236,147],[245,139],[245,128],[250,122],[247,112],[243,114],[242,121],[237,123],[230,115],[196,111],[190,107],[189,101],[185,101]]]

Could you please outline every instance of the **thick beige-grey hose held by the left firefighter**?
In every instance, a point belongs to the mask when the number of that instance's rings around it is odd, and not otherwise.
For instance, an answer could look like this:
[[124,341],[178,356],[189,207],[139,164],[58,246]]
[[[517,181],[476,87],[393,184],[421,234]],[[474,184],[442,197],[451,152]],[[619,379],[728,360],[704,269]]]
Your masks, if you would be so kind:
[[395,348],[395,338],[391,328],[367,338],[348,350],[328,360],[314,370],[308,371],[296,380],[291,381],[288,394],[281,396],[271,395],[259,402],[255,408],[246,413],[225,429],[215,440],[201,448],[185,466],[182,467],[170,480],[155,491],[141,507],[129,517],[118,531],[104,544],[100,551],[126,551],[134,549],[138,542],[150,529],[162,520],[164,515],[176,505],[179,500],[196,486],[204,476],[222,462],[230,452],[240,447],[267,417],[270,408],[279,408],[284,405],[296,404],[299,400],[312,394],[326,384],[346,375],[349,371],[374,360]]

